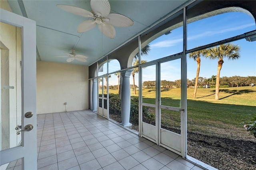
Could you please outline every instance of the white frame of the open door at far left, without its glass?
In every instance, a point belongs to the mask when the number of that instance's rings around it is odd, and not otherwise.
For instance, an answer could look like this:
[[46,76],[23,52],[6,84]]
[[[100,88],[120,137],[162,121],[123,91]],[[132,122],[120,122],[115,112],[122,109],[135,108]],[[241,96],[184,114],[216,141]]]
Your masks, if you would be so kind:
[[[22,30],[22,130],[25,125],[34,125],[31,131],[21,132],[21,146],[0,151],[0,164],[22,158],[22,169],[37,169],[36,22],[3,9],[0,10],[0,16],[0,22]],[[25,118],[24,115],[27,112],[34,113],[34,116]]]

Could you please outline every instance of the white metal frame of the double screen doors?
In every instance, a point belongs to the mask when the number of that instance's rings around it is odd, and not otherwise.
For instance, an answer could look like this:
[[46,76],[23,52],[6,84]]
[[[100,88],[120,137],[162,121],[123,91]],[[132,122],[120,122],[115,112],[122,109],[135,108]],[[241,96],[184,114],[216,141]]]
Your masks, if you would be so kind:
[[[186,56],[185,56],[186,57]],[[180,133],[181,134],[177,134],[177,135],[179,135],[180,136],[180,151],[177,151],[176,149],[173,149],[173,148],[171,148],[171,147],[168,147],[168,146],[166,146],[166,145],[164,145],[164,144],[161,144],[161,142],[160,142],[160,138],[161,138],[161,126],[160,126],[160,123],[161,123],[161,113],[160,113],[160,110],[161,110],[161,103],[160,103],[160,95],[161,95],[161,93],[160,93],[160,91],[161,91],[161,89],[160,89],[160,86],[161,86],[161,82],[160,81],[158,81],[158,80],[160,80],[160,75],[161,75],[161,68],[160,68],[160,64],[161,63],[165,63],[165,62],[168,62],[168,61],[174,61],[174,60],[176,60],[176,59],[181,59],[180,60],[180,68],[181,68],[181,75],[180,75],[180,78],[181,78],[181,82],[184,84],[184,83],[186,83],[186,81],[184,81],[184,71],[186,70],[184,67],[186,67],[186,65],[182,65],[182,62],[184,62],[183,61],[183,58],[184,58],[184,55],[183,55],[183,53],[178,53],[178,54],[175,54],[175,55],[170,55],[170,56],[168,56],[168,57],[164,57],[164,58],[162,58],[162,59],[157,59],[157,60],[154,60],[154,61],[150,61],[150,62],[148,62],[148,63],[145,63],[145,64],[141,64],[141,65],[139,65],[139,67],[140,67],[140,71],[141,72],[143,72],[142,71],[142,68],[143,67],[148,67],[148,66],[151,66],[151,65],[156,65],[156,102],[155,102],[155,104],[150,104],[150,103],[143,103],[143,101],[142,101],[142,95],[140,95],[140,97],[141,97],[141,99],[140,99],[140,101],[141,101],[141,103],[140,103],[140,135],[141,136],[143,136],[143,137],[145,137],[145,138],[147,138],[148,140],[151,140],[152,142],[155,142],[156,144],[158,144],[158,145],[160,145],[160,146],[163,146],[163,147],[165,147],[165,148],[167,148],[167,149],[169,149],[169,150],[171,150],[171,151],[173,151],[173,152],[175,152],[175,153],[177,153],[177,154],[179,154],[179,155],[181,155],[181,156],[184,156],[184,143],[186,142],[185,140],[184,140],[184,133],[186,133],[186,127],[184,127],[184,125],[186,125],[186,122],[184,122],[185,121],[185,119],[184,119],[184,117],[186,117],[185,116],[185,108],[186,108],[186,106],[184,105],[184,101],[186,101],[186,97],[184,97],[184,95],[182,95],[182,94],[184,94],[184,85],[183,86],[181,86],[181,99],[180,99],[180,101],[181,101],[181,106],[180,106],[180,108],[176,108],[176,107],[171,107],[171,106],[169,106],[170,108],[172,108],[171,110],[173,110],[173,111],[180,111],[180,128],[181,128],[181,130],[180,130]],[[141,78],[140,78],[140,91],[142,92],[142,74],[140,74],[140,76],[141,76]],[[186,85],[185,85],[185,87],[186,87]],[[186,91],[186,89],[185,89],[185,91]],[[155,128],[156,128],[156,134],[155,134],[155,139],[153,139],[152,137],[148,137],[148,136],[146,136],[146,135],[144,135],[144,134],[142,134],[142,132],[143,132],[143,119],[142,119],[142,106],[148,106],[148,107],[155,107],[155,110],[156,110],[156,125],[155,125]],[[146,129],[150,129],[150,127],[151,126],[153,126],[153,125],[148,125],[147,123],[144,123],[145,125],[146,125]],[[152,131],[152,130],[151,130]],[[149,134],[151,134],[152,132],[149,132]],[[176,135],[176,134],[174,134],[174,135]]]

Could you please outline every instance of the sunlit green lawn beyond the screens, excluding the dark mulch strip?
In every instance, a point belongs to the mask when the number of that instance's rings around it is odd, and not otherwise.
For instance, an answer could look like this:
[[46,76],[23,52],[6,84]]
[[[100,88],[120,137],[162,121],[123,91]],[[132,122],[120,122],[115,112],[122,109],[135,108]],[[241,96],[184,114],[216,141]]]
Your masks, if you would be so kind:
[[[256,116],[256,87],[220,88],[218,101],[214,99],[214,88],[198,89],[196,99],[192,99],[193,92],[194,89],[187,89],[188,132],[254,140],[240,123]],[[109,93],[118,91],[109,90]],[[134,96],[138,96],[138,91]],[[143,89],[142,96],[143,102],[155,103],[155,89]],[[161,89],[161,102],[162,105],[179,107],[180,89]],[[179,113],[166,109],[161,112],[163,125],[180,129]]]

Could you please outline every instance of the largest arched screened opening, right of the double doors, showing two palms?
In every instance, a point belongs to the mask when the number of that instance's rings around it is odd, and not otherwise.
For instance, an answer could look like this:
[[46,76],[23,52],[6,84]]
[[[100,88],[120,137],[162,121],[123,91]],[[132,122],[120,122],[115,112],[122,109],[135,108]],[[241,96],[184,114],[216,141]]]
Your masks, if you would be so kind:
[[[187,53],[188,158],[218,169],[253,169],[254,156],[243,150],[254,150],[250,146],[256,140],[248,136],[241,123],[255,116],[251,111],[256,108],[252,104],[255,91],[250,84],[256,81],[256,43],[245,38],[227,43],[222,40],[255,30],[255,20],[238,7],[215,10],[197,18],[202,19],[188,24],[187,48],[205,47]],[[215,42],[219,43],[213,45]],[[228,53],[228,48],[234,50]],[[220,58],[224,63],[218,64]]]

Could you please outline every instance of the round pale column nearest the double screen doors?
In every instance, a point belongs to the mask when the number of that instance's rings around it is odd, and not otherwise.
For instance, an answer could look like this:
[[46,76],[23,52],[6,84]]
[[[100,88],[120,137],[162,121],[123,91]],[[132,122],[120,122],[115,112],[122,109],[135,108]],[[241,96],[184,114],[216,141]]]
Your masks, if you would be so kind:
[[122,97],[121,97],[121,115],[124,127],[132,126],[130,121],[130,107],[131,107],[131,94],[130,94],[130,75],[131,70],[121,71],[122,74]]

